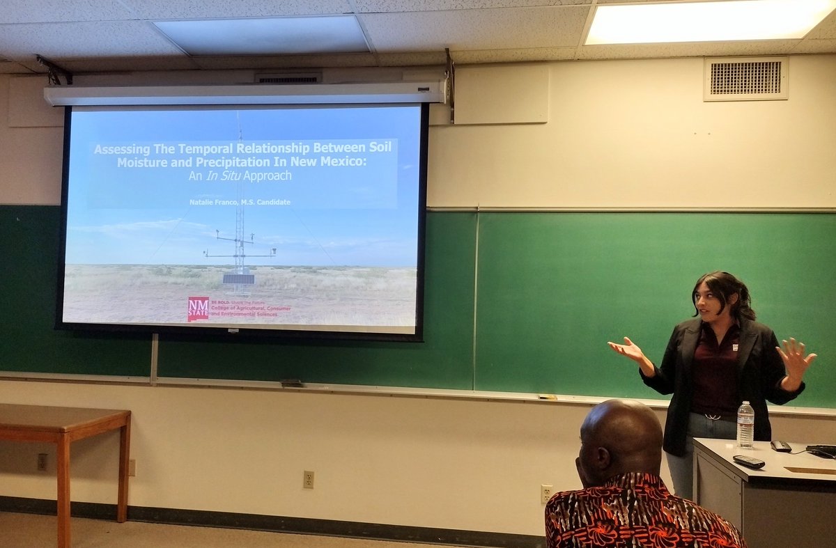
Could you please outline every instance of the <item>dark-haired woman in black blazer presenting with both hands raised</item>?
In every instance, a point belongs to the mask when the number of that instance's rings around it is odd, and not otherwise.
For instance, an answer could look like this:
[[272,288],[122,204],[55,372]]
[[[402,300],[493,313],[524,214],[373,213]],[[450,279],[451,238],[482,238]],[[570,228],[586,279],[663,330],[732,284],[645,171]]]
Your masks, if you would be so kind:
[[735,439],[737,408],[755,409],[754,438],[772,438],[767,400],[787,403],[802,393],[804,372],[816,354],[794,338],[778,346],[772,329],[755,322],[746,285],[728,272],[711,272],[691,294],[699,319],[674,327],[660,367],[630,338],[608,343],[639,364],[650,388],[672,393],[665,420],[665,453],[675,494],[691,498],[693,438]]

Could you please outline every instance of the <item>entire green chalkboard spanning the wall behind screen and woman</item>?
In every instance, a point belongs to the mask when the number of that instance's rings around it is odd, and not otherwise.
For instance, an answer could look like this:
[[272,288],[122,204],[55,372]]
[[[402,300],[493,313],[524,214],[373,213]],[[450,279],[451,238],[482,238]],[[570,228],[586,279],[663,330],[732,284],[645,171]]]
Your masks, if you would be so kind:
[[[150,336],[53,329],[59,208],[0,206],[0,370],[147,377]],[[819,354],[793,402],[836,408],[836,214],[431,211],[424,343],[161,334],[161,378],[661,398],[608,340],[659,360],[702,273]]]

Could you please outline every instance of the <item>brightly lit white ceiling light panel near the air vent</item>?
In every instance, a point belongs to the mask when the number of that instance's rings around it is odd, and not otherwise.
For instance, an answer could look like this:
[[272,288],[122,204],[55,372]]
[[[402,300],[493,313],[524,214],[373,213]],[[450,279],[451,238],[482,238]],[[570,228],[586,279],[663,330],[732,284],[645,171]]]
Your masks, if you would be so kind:
[[597,6],[584,44],[803,38],[836,0],[733,0]]

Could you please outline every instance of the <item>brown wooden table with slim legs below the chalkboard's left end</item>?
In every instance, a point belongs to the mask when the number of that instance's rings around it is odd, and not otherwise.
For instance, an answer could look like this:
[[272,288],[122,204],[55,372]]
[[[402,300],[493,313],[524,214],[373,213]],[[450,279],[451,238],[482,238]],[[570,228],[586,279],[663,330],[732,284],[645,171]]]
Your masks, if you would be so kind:
[[47,407],[0,403],[0,439],[50,442],[57,446],[58,545],[69,548],[69,444],[110,430],[120,430],[119,495],[116,520],[128,519],[130,411]]

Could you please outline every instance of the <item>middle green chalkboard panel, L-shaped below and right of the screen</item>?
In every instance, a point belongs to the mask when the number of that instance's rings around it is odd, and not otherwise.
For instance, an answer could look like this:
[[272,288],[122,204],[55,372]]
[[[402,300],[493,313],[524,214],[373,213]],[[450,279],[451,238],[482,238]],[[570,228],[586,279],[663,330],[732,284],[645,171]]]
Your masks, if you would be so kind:
[[160,337],[160,377],[473,388],[476,214],[430,214],[424,343]]

